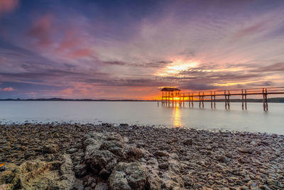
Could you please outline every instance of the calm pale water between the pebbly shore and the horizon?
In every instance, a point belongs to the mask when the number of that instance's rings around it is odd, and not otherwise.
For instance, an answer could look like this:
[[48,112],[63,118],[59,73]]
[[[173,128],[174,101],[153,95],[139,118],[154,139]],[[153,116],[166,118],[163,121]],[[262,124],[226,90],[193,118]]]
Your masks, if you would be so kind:
[[284,134],[284,104],[268,104],[268,112],[262,106],[249,103],[242,111],[241,103],[231,103],[226,111],[224,103],[211,109],[209,102],[200,109],[197,103],[195,108],[165,108],[156,102],[0,101],[0,122],[109,122]]

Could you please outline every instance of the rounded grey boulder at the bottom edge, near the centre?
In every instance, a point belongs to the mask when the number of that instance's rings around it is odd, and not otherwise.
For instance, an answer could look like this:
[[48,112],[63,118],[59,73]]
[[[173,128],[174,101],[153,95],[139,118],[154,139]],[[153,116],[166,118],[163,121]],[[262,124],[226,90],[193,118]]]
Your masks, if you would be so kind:
[[109,177],[111,190],[145,189],[146,171],[138,162],[119,162]]

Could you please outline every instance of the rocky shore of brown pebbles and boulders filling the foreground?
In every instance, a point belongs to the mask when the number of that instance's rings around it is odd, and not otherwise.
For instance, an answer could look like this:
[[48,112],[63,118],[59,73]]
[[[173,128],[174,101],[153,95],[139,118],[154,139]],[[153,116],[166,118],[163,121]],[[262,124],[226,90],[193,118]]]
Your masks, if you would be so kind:
[[284,189],[283,135],[109,123],[0,128],[0,189]]

